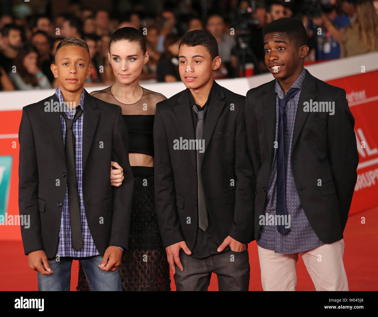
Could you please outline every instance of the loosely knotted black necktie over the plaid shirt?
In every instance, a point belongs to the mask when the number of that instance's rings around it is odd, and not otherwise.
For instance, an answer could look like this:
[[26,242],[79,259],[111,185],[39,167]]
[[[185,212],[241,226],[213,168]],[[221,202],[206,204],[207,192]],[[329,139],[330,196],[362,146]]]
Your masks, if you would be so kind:
[[68,213],[70,213],[71,242],[76,251],[83,247],[83,235],[81,231],[81,215],[79,191],[77,190],[76,164],[75,164],[75,136],[73,134],[73,123],[81,116],[83,110],[76,107],[73,120],[67,118],[64,111],[61,112],[66,122],[65,152],[67,165],[67,186],[68,186]]

